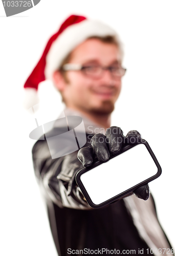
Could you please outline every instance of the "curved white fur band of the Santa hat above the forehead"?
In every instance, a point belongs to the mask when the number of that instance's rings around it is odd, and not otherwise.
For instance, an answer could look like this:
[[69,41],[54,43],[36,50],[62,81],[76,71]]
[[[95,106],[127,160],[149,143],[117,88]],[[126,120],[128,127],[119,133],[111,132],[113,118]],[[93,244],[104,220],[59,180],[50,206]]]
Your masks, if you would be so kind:
[[116,31],[97,20],[83,20],[65,29],[53,42],[46,57],[45,76],[52,78],[63,59],[81,42],[91,36],[115,36],[119,41]]

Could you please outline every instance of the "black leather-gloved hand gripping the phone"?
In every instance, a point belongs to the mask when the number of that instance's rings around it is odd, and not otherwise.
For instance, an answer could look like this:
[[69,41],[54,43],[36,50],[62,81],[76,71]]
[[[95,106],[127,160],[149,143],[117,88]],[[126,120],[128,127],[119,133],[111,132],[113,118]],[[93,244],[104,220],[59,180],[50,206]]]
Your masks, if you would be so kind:
[[[141,139],[141,135],[136,130],[127,133],[126,137],[123,131],[117,126],[111,126],[106,130],[106,134],[95,134],[91,139],[91,146],[82,147],[78,151],[78,159],[84,167],[91,166],[93,161],[99,160],[106,162],[110,159],[110,155],[121,151],[121,148],[128,144],[136,144]],[[137,188],[134,192],[135,196],[143,200],[149,198],[148,184]]]

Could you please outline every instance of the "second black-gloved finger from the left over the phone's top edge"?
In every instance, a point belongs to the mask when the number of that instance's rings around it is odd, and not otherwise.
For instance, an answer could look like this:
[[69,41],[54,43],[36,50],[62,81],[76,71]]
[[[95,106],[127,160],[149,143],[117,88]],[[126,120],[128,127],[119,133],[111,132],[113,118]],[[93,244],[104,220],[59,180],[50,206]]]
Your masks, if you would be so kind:
[[95,134],[91,139],[91,145],[93,147],[93,153],[99,161],[106,162],[110,159],[110,152],[108,151],[106,136],[104,134]]

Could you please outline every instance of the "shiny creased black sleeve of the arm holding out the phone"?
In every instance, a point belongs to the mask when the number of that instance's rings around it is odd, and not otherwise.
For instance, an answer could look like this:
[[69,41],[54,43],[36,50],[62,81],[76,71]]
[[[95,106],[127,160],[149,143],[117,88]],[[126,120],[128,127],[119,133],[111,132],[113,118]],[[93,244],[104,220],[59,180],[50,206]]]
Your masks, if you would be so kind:
[[32,149],[35,176],[42,195],[60,208],[92,209],[76,184],[75,176],[83,166],[77,153],[52,159],[46,140],[38,140]]

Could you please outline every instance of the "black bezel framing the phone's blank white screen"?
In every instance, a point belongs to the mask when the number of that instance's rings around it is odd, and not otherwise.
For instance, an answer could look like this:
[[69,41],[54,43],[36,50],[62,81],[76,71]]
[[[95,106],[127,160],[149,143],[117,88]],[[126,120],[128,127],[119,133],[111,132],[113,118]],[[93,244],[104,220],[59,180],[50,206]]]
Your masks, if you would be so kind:
[[[91,207],[93,207],[93,208],[101,208],[101,207],[103,207],[103,206],[105,206],[105,205],[107,205],[107,204],[110,204],[110,203],[116,201],[117,199],[123,198],[123,197],[126,196],[127,194],[132,193],[132,192],[133,192],[134,190],[136,190],[138,187],[140,187],[140,186],[142,186],[142,185],[145,185],[145,184],[149,183],[149,182],[152,181],[152,180],[157,179],[157,178],[161,175],[161,173],[162,173],[162,168],[161,168],[161,166],[160,166],[160,164],[159,164],[159,162],[158,162],[158,160],[157,160],[155,154],[152,152],[152,150],[151,150],[151,148],[150,148],[148,142],[147,142],[146,140],[144,140],[144,139],[140,139],[140,142],[138,142],[137,144],[124,146],[124,147],[122,148],[122,150],[121,150],[119,153],[117,153],[117,154],[115,154],[115,155],[111,155],[111,156],[110,156],[110,159],[112,159],[112,158],[114,158],[114,157],[116,157],[116,156],[118,156],[118,155],[124,153],[125,151],[129,150],[129,149],[132,148],[132,147],[135,147],[135,146],[138,145],[138,144],[144,144],[144,145],[146,146],[146,148],[147,148],[147,150],[148,150],[150,156],[152,157],[152,159],[154,160],[156,166],[158,167],[158,172],[157,172],[157,174],[154,175],[154,176],[152,176],[152,177],[150,177],[150,178],[148,178],[148,179],[146,179],[146,180],[144,180],[144,181],[142,181],[142,182],[140,182],[139,184],[137,184],[137,185],[135,185],[135,186],[133,186],[133,187],[131,187],[131,188],[129,188],[129,189],[123,191],[123,192],[120,193],[119,195],[117,195],[117,196],[115,196],[115,197],[113,197],[113,198],[111,198],[111,199],[108,199],[108,200],[106,200],[105,202],[103,202],[103,203],[97,205],[97,204],[94,204],[94,203],[92,202],[90,196],[88,195],[88,192],[86,191],[85,187],[83,186],[83,184],[82,184],[82,182],[81,182],[81,180],[80,180],[80,176],[81,176],[82,174],[84,174],[84,173],[88,172],[89,170],[93,169],[94,167],[96,167],[96,166],[102,164],[102,162],[96,161],[96,162],[94,162],[91,166],[89,166],[89,167],[84,167],[84,168],[82,168],[81,170],[79,170],[79,172],[76,174],[76,177],[75,177],[77,185],[80,187],[84,198],[86,199],[86,201],[88,202],[88,204],[89,204]],[[110,160],[110,159],[109,159],[109,160]]]

